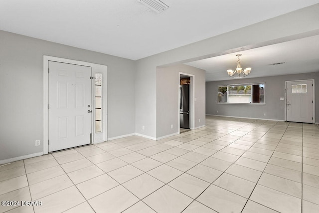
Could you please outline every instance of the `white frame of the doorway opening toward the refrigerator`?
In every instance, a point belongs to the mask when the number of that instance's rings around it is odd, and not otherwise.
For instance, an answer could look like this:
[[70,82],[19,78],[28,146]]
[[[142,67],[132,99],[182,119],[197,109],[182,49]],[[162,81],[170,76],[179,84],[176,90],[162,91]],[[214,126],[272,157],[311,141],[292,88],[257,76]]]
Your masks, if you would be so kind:
[[[178,72],[178,80],[180,82],[180,75],[186,75],[190,77],[190,119],[189,119],[189,123],[190,123],[190,129],[194,130],[195,129],[195,75],[189,74],[189,73],[185,73],[185,72]],[[178,83],[178,134],[180,134],[180,120],[179,120],[179,106],[180,106],[180,100],[179,100],[179,85],[180,83]]]

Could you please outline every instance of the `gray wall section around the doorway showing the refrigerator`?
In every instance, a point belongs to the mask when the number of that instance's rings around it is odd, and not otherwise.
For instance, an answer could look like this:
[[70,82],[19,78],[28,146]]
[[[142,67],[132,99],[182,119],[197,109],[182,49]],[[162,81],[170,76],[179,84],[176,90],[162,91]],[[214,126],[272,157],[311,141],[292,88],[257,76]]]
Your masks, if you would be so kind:
[[[178,132],[179,72],[194,75],[195,128],[205,125],[205,70],[184,64],[158,67],[156,75],[158,138]],[[173,129],[170,128],[171,124]]]

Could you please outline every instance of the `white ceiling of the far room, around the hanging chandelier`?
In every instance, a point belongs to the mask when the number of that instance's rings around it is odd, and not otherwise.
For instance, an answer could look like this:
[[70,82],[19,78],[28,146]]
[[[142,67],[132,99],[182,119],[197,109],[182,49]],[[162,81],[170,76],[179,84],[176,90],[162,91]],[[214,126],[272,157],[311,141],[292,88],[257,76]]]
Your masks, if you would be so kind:
[[[206,81],[230,80],[227,69],[235,70],[236,54],[242,68],[251,67],[246,78],[319,71],[319,35],[263,46],[186,63],[206,70]],[[271,65],[285,62],[284,64]]]

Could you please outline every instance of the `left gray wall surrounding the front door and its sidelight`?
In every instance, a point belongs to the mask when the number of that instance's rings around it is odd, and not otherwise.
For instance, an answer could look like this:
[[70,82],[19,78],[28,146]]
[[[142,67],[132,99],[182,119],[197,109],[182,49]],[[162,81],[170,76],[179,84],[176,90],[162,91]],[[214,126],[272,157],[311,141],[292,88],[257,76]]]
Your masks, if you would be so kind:
[[108,137],[135,133],[135,61],[0,31],[0,160],[43,151],[43,55],[107,65]]

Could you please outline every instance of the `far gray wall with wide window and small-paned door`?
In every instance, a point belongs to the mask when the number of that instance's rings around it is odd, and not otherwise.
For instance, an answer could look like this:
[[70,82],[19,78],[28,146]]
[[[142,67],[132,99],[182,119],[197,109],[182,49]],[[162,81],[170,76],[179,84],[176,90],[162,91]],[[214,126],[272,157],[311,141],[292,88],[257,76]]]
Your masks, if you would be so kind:
[[[253,73],[252,73],[253,74]],[[279,75],[263,78],[244,78],[227,81],[212,81],[206,82],[206,114],[236,116],[246,118],[261,118],[285,120],[285,101],[280,100],[280,97],[285,97],[285,81],[291,80],[308,80],[315,79],[315,100],[316,109],[315,121],[319,122],[319,72],[294,74],[294,75]],[[265,104],[218,104],[217,103],[217,87],[228,84],[240,83],[261,83],[265,82]],[[218,113],[217,113],[218,111]],[[266,113],[266,116],[264,116]]]

